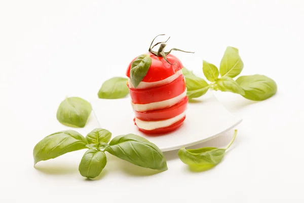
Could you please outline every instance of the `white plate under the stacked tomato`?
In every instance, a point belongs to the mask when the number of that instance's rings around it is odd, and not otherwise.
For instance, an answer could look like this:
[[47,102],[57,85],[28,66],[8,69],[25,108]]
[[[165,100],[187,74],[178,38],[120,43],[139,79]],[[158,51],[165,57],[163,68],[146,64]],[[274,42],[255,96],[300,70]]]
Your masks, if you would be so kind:
[[91,101],[91,105],[100,127],[112,132],[112,138],[121,134],[138,134],[156,144],[162,151],[175,150],[210,140],[234,128],[242,121],[227,111],[209,91],[195,103],[188,103],[186,119],[180,128],[156,137],[146,136],[134,125],[134,113],[129,97],[95,98]]

